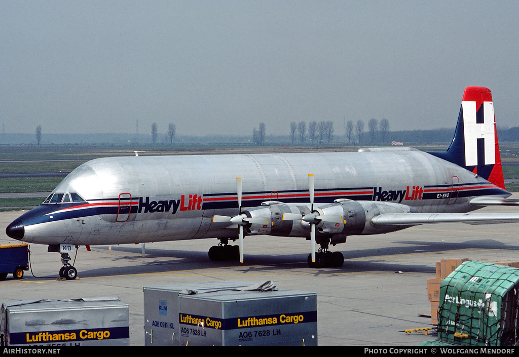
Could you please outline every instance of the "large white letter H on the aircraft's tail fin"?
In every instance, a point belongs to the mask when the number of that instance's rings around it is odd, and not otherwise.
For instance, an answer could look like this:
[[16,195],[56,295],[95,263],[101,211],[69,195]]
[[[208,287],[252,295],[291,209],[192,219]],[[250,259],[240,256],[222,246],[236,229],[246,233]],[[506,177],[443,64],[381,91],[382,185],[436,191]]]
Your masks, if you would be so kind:
[[[476,123],[476,102],[461,102],[465,134],[465,166],[477,166],[477,139],[485,140],[485,165],[496,163],[494,104],[483,102],[483,123]],[[480,162],[483,164],[483,162]]]

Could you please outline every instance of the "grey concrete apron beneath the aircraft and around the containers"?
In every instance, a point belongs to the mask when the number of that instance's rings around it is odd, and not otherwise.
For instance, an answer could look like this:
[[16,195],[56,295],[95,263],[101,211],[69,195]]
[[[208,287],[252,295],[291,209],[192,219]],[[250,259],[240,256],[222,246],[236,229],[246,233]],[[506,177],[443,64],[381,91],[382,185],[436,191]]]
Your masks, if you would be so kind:
[[[480,212],[519,212],[485,208]],[[22,212],[0,213],[0,244],[12,242],[5,227]],[[317,292],[319,345],[401,346],[435,339],[406,335],[431,327],[426,280],[442,258],[517,260],[519,224],[438,224],[386,235],[349,237],[335,246],[345,256],[339,269],[311,269],[303,239],[246,237],[244,264],[211,262],[216,239],[80,247],[74,266],[79,279],[57,280],[58,253],[31,244],[31,271],[22,280],[0,282],[0,303],[36,298],[119,296],[130,306],[130,345],[144,345],[143,287],[217,280],[272,280],[283,289]],[[74,256],[73,256],[74,259]]]

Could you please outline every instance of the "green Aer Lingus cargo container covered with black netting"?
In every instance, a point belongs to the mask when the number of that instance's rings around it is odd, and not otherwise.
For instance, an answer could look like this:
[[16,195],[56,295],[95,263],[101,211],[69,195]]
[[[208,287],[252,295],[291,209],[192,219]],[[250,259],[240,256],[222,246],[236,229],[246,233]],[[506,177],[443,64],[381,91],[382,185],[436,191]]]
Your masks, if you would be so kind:
[[519,344],[519,269],[465,262],[442,282],[438,340],[461,346]]

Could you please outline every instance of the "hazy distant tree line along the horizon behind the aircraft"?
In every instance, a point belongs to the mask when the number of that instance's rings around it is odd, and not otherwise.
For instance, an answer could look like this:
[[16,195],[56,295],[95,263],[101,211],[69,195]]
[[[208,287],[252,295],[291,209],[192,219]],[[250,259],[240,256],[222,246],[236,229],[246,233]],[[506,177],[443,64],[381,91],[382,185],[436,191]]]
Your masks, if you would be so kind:
[[[323,144],[332,143],[334,141],[336,145],[368,145],[381,143],[383,145],[389,145],[392,141],[403,142],[404,145],[415,145],[415,144],[448,144],[452,141],[454,135],[454,128],[440,128],[430,130],[402,130],[402,131],[390,131],[389,121],[385,118],[377,120],[370,119],[367,121],[367,132],[364,132],[365,124],[362,119],[353,122],[349,120],[344,123],[344,136],[334,135],[334,123],[333,121],[317,121],[312,120],[307,123],[305,121],[292,121],[290,123],[290,132],[288,137],[286,135],[269,135],[269,144],[286,143],[289,139],[292,144],[301,143],[304,145],[308,144]],[[147,138],[151,138],[152,143],[157,144],[159,142],[158,126],[157,123],[153,123],[151,127],[151,135],[146,134],[130,134],[130,133],[97,133],[97,134],[69,134],[66,136],[67,141],[63,141],[63,135],[57,134],[45,134],[45,142],[51,145],[63,144],[63,143],[79,143],[92,144],[99,143],[106,145],[108,143],[118,143],[124,145],[134,145],[139,141],[146,142]],[[500,142],[518,142],[519,141],[519,127],[498,127],[497,128],[499,141]],[[35,136],[32,138],[36,139],[36,145],[39,146],[42,143],[42,126],[36,126]],[[31,134],[7,134],[0,135],[0,144],[18,144],[27,142],[28,135]],[[34,135],[34,134],[33,134]],[[173,144],[173,140],[176,138],[176,127],[174,123],[170,123],[168,131],[163,136],[162,143]],[[34,140],[34,139],[33,139]],[[148,139],[149,140],[149,139]],[[265,123],[260,123],[258,129],[254,128],[252,141],[250,136],[244,135],[206,135],[206,136],[194,136],[194,135],[183,135],[182,142],[189,143],[227,143],[236,144],[243,142],[251,142],[253,145],[262,146],[265,145],[267,140],[266,126]]]

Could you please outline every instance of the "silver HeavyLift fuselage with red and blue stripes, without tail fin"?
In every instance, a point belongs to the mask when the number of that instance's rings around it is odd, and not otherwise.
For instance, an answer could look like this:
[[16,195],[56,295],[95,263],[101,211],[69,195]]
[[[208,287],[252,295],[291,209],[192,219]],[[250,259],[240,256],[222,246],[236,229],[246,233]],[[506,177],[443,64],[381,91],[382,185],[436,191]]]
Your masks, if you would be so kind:
[[[212,217],[239,213],[237,177],[243,184],[243,211],[265,201],[309,207],[308,174],[315,175],[316,207],[350,199],[397,203],[415,212],[468,212],[474,209],[468,202],[472,197],[509,195],[456,164],[408,148],[101,158],[79,166],[53,191],[77,193],[86,202],[42,204],[21,216],[23,240],[97,245],[232,238],[236,227],[213,223]],[[273,217],[267,222],[269,229],[280,224]],[[309,235],[305,227],[279,232]],[[353,234],[379,232],[384,231],[366,224]]]

